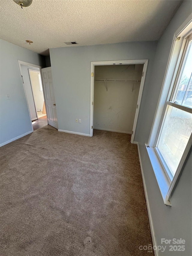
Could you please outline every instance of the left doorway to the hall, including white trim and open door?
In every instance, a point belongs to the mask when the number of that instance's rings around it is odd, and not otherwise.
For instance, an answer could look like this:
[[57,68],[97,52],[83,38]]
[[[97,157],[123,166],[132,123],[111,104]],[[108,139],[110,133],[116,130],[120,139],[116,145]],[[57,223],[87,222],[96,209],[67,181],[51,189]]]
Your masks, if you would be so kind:
[[[58,129],[51,67],[43,68],[41,66],[20,60],[18,60],[18,64],[21,74],[23,91],[26,98],[29,120],[31,123],[31,131],[41,128],[47,124]],[[33,82],[33,75],[36,75],[36,82]],[[34,83],[36,83],[35,86],[37,91],[40,91],[40,105],[36,104],[36,93],[34,92],[35,89],[33,89]],[[44,101],[43,105],[42,100]]]

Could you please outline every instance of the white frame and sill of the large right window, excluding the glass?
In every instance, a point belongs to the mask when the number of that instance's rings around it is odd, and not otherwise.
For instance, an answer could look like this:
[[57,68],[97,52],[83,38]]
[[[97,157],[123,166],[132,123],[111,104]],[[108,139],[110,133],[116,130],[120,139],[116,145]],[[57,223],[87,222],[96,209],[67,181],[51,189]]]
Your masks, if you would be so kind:
[[174,176],[172,175],[173,177],[167,171],[169,168],[161,153],[158,152],[157,145],[163,128],[163,122],[166,117],[168,105],[191,113],[190,107],[172,102],[176,96],[178,81],[182,73],[183,61],[190,41],[191,33],[192,18],[189,16],[174,34],[152,130],[149,136],[149,141],[145,144],[161,191],[161,195],[164,200],[164,204],[169,206],[171,206],[171,196],[174,192],[174,189],[176,188],[181,172],[187,161],[187,156],[191,151],[192,135],[190,135],[189,141],[179,162],[176,173]]

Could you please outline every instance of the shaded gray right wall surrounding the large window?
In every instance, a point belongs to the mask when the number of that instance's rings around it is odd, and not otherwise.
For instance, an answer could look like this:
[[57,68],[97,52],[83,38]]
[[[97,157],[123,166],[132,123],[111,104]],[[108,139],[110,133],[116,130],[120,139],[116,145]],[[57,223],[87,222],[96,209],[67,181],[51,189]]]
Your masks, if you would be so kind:
[[149,197],[149,206],[151,209],[157,243],[158,245],[161,245],[161,238],[182,238],[186,240],[185,251],[171,252],[166,250],[164,253],[159,252],[159,255],[166,256],[192,255],[191,155],[187,161],[186,166],[184,167],[182,176],[171,198],[172,206],[165,206],[144,143],[148,141],[152,128],[152,122],[164,79],[173,35],[191,14],[191,8],[191,1],[184,1],[182,3],[166,31],[162,35],[160,41],[158,42],[149,91],[147,97],[144,99],[146,106],[143,111],[142,126],[140,127],[141,129],[138,140],[141,162],[146,181],[146,188]]

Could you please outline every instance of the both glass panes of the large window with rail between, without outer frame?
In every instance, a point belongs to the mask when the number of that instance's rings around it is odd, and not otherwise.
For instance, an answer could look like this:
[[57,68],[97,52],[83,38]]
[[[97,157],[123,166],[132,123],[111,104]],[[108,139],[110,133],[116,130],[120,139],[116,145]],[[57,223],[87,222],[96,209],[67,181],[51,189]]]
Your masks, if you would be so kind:
[[155,145],[170,180],[179,167],[192,132],[192,38],[186,40],[183,58],[173,86],[171,100],[167,101],[161,129]]

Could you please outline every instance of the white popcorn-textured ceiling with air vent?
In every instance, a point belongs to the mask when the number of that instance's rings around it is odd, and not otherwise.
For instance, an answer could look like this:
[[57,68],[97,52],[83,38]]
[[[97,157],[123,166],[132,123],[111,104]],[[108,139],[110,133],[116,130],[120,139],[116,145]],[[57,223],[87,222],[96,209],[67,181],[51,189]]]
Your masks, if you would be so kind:
[[[13,0],[1,0],[0,37],[43,55],[56,47],[155,41],[181,2],[33,0],[21,9]],[[68,41],[78,45],[64,44]]]

